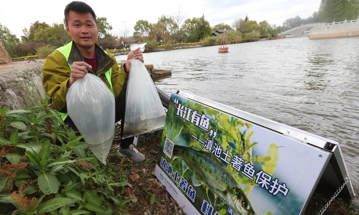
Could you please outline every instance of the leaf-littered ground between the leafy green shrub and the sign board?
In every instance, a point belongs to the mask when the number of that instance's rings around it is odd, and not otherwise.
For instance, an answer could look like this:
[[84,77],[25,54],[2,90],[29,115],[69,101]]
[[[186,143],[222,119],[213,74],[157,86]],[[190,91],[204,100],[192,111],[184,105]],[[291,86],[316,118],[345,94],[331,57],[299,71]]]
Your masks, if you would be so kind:
[[[123,188],[122,197],[134,198],[124,205],[125,209],[120,213],[143,215],[144,212],[149,211],[151,215],[185,215],[186,213],[154,175],[163,130],[141,135],[140,144],[136,148],[146,156],[146,161],[143,163],[134,163],[116,154],[121,143],[120,132],[120,126],[116,126],[113,147],[107,159],[108,163],[118,167],[118,172],[125,173],[129,180],[127,186]],[[152,201],[151,197],[154,198]]]

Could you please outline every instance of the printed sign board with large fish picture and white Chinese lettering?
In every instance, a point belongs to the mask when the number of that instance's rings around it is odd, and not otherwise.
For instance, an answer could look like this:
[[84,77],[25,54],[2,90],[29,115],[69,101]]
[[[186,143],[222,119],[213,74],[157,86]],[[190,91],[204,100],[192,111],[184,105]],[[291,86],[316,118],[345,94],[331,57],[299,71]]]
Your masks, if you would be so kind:
[[293,138],[243,113],[172,94],[155,175],[187,214],[303,214],[333,153],[308,144],[313,135],[287,126]]

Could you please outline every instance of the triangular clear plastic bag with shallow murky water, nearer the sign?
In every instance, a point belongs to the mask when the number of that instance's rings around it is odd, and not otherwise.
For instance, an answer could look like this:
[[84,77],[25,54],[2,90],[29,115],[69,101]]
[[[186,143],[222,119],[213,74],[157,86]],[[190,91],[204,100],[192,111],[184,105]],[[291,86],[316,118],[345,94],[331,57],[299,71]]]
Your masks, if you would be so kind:
[[[131,51],[145,44],[132,44]],[[145,65],[132,58],[126,91],[125,124],[122,139],[162,129],[166,113]]]

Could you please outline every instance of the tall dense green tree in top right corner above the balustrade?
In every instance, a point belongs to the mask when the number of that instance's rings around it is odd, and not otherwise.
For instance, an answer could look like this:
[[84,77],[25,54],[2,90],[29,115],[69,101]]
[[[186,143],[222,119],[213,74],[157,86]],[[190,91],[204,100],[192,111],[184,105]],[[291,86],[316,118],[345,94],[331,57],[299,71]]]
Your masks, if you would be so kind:
[[358,5],[358,0],[321,0],[318,17],[324,23],[356,19]]

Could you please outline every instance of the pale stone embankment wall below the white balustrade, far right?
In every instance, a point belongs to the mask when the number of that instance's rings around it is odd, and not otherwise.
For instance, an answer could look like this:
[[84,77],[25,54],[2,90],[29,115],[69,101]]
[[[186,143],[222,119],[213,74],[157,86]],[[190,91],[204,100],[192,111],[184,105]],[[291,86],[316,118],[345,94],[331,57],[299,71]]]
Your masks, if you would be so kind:
[[326,39],[338,37],[359,37],[359,28],[347,28],[337,30],[325,30],[318,32],[311,32],[308,35],[309,39]]

